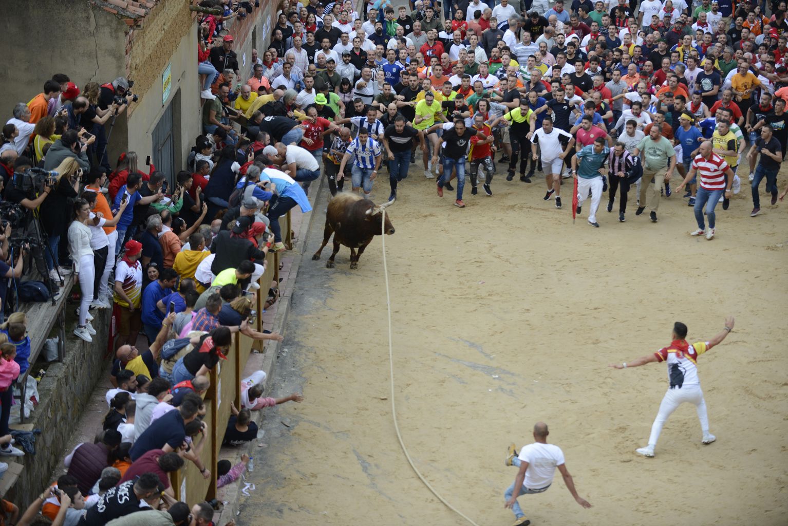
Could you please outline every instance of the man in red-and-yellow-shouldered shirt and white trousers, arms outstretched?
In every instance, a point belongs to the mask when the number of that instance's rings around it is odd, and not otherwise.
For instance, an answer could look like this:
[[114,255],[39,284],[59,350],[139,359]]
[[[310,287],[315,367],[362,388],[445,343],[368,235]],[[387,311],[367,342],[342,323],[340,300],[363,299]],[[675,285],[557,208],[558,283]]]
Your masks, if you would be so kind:
[[649,436],[649,445],[637,449],[637,453],[644,457],[654,456],[654,447],[656,446],[657,439],[660,438],[662,426],[667,421],[667,417],[671,416],[682,402],[690,402],[695,404],[697,409],[697,417],[701,420],[701,431],[703,432],[703,439],[701,442],[710,444],[716,440],[716,436],[708,432],[708,414],[706,413],[706,402],[703,399],[703,391],[701,391],[701,380],[697,377],[697,357],[704,354],[713,346],[722,343],[723,339],[734,328],[734,317],[729,316],[725,318],[725,326],[714,338],[708,342],[696,342],[689,345],[686,341],[687,326],[682,322],[677,321],[673,325],[673,334],[671,336],[671,345],[663,347],[656,351],[656,353],[648,354],[644,357],[637,358],[636,360],[626,361],[623,364],[611,364],[614,369],[627,369],[629,367],[637,367],[638,365],[646,365],[652,361],[667,361],[667,378],[670,381],[670,388],[662,398],[660,404],[660,412],[656,414],[656,419],[651,427],[651,436]]

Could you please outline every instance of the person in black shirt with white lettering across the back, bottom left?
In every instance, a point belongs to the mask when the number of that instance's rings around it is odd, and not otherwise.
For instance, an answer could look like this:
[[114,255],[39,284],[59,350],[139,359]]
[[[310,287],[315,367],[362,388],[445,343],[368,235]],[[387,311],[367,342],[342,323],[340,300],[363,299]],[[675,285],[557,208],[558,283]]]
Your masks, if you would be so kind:
[[162,482],[154,473],[143,473],[136,480],[128,480],[107,491],[95,506],[87,509],[79,526],[107,524],[140,509],[158,508],[162,499]]

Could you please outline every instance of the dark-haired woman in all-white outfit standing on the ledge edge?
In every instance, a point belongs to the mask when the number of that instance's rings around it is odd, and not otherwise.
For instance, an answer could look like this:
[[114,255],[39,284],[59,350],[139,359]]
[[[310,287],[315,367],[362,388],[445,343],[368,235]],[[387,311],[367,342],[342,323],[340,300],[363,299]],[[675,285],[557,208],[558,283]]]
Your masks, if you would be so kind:
[[[74,329],[74,334],[92,342],[92,335],[95,329],[87,318],[90,313],[88,307],[93,301],[93,282],[95,280],[95,269],[93,266],[93,249],[91,248],[91,228],[87,226],[90,220],[91,207],[84,199],[77,199],[74,202],[74,220],[69,225],[69,254],[74,264],[74,276],[80,280],[82,290],[82,302],[80,302],[80,321]],[[91,317],[92,319],[92,317]]]

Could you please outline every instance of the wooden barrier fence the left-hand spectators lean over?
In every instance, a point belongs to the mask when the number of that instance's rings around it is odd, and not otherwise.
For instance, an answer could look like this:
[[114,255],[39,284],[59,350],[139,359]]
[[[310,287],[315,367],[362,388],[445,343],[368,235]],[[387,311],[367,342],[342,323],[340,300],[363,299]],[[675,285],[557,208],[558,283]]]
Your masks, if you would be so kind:
[[[282,228],[287,227],[288,238],[290,238],[290,213],[288,212],[280,221]],[[258,281],[260,288],[257,291],[256,303],[252,307],[257,311],[257,316],[252,328],[260,332],[262,332],[262,307],[266,302],[271,282],[278,279],[280,257],[281,253],[268,254],[266,272]],[[233,335],[231,349],[227,360],[220,361],[214,369],[211,369],[210,388],[205,395],[206,415],[203,421],[207,424],[209,432],[203,442],[200,458],[203,465],[210,470],[210,478],[203,478],[197,466],[190,461],[187,461],[180,471],[170,473],[170,483],[173,485],[175,498],[190,505],[216,497],[216,465],[219,461],[219,450],[225,437],[227,421],[232,414],[230,402],[234,402],[240,409],[240,381],[243,380],[243,368],[246,367],[253,349],[262,350],[262,341],[251,339],[238,332]]]

